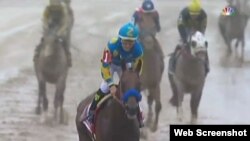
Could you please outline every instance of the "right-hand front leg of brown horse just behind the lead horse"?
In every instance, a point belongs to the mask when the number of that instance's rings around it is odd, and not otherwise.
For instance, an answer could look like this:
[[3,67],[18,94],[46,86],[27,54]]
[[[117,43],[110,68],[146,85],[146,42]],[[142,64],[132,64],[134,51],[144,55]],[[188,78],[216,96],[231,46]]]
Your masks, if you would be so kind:
[[159,114],[161,111],[161,94],[160,94],[160,86],[159,84],[154,89],[149,89],[150,95],[154,97],[155,100],[155,121],[151,131],[155,132],[158,127]]

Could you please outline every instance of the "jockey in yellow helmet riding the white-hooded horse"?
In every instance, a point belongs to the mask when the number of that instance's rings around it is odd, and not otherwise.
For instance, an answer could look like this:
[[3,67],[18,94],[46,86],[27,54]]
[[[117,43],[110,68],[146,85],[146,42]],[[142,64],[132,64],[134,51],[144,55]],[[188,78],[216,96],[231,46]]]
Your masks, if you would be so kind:
[[[177,20],[178,31],[182,39],[182,43],[184,46],[188,43],[188,36],[192,31],[200,31],[205,34],[206,27],[207,27],[207,14],[205,10],[201,7],[200,0],[192,0],[191,4],[185,7],[179,14],[179,18]],[[174,54],[175,56],[176,51],[180,48],[177,45]],[[173,59],[173,58],[172,58]],[[173,59],[174,60],[174,59]],[[209,60],[207,55],[207,62],[205,63],[206,73],[209,72]],[[174,72],[175,61],[171,67],[172,72]]]

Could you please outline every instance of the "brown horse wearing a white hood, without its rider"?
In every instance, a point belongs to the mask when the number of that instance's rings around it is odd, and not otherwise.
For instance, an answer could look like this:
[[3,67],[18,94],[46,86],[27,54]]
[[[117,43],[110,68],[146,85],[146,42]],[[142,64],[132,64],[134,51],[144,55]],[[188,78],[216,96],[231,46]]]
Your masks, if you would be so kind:
[[173,96],[171,104],[177,107],[178,119],[182,120],[184,94],[191,94],[191,123],[196,123],[198,106],[206,80],[205,61],[208,43],[205,36],[196,31],[191,35],[188,46],[182,46],[176,55],[176,67],[168,74]]

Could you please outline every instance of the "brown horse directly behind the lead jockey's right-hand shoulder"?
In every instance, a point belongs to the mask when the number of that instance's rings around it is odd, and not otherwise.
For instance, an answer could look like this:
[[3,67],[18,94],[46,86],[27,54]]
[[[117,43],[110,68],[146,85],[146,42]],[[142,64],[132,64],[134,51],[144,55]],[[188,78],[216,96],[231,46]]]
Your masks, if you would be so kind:
[[[153,34],[140,35],[144,47],[143,71],[141,76],[142,90],[148,90],[148,115],[146,126],[155,132],[158,127],[159,114],[162,108],[160,83],[164,71],[164,54],[158,40]],[[155,119],[153,120],[152,104],[155,101]]]

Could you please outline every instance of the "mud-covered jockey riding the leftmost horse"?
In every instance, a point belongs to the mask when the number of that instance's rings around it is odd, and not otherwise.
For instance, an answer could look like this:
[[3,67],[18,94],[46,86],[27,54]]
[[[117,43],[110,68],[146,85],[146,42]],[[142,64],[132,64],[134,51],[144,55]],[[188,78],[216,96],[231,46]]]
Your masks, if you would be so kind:
[[[43,32],[46,33],[51,29],[56,30],[56,36],[62,41],[63,47],[65,48],[68,66],[72,66],[71,53],[69,50],[69,30],[70,30],[70,11],[65,6],[66,3],[62,4],[60,0],[50,0],[43,13]],[[41,44],[43,38],[41,39]],[[34,61],[38,58],[39,52],[42,45],[38,45],[35,49]]]

